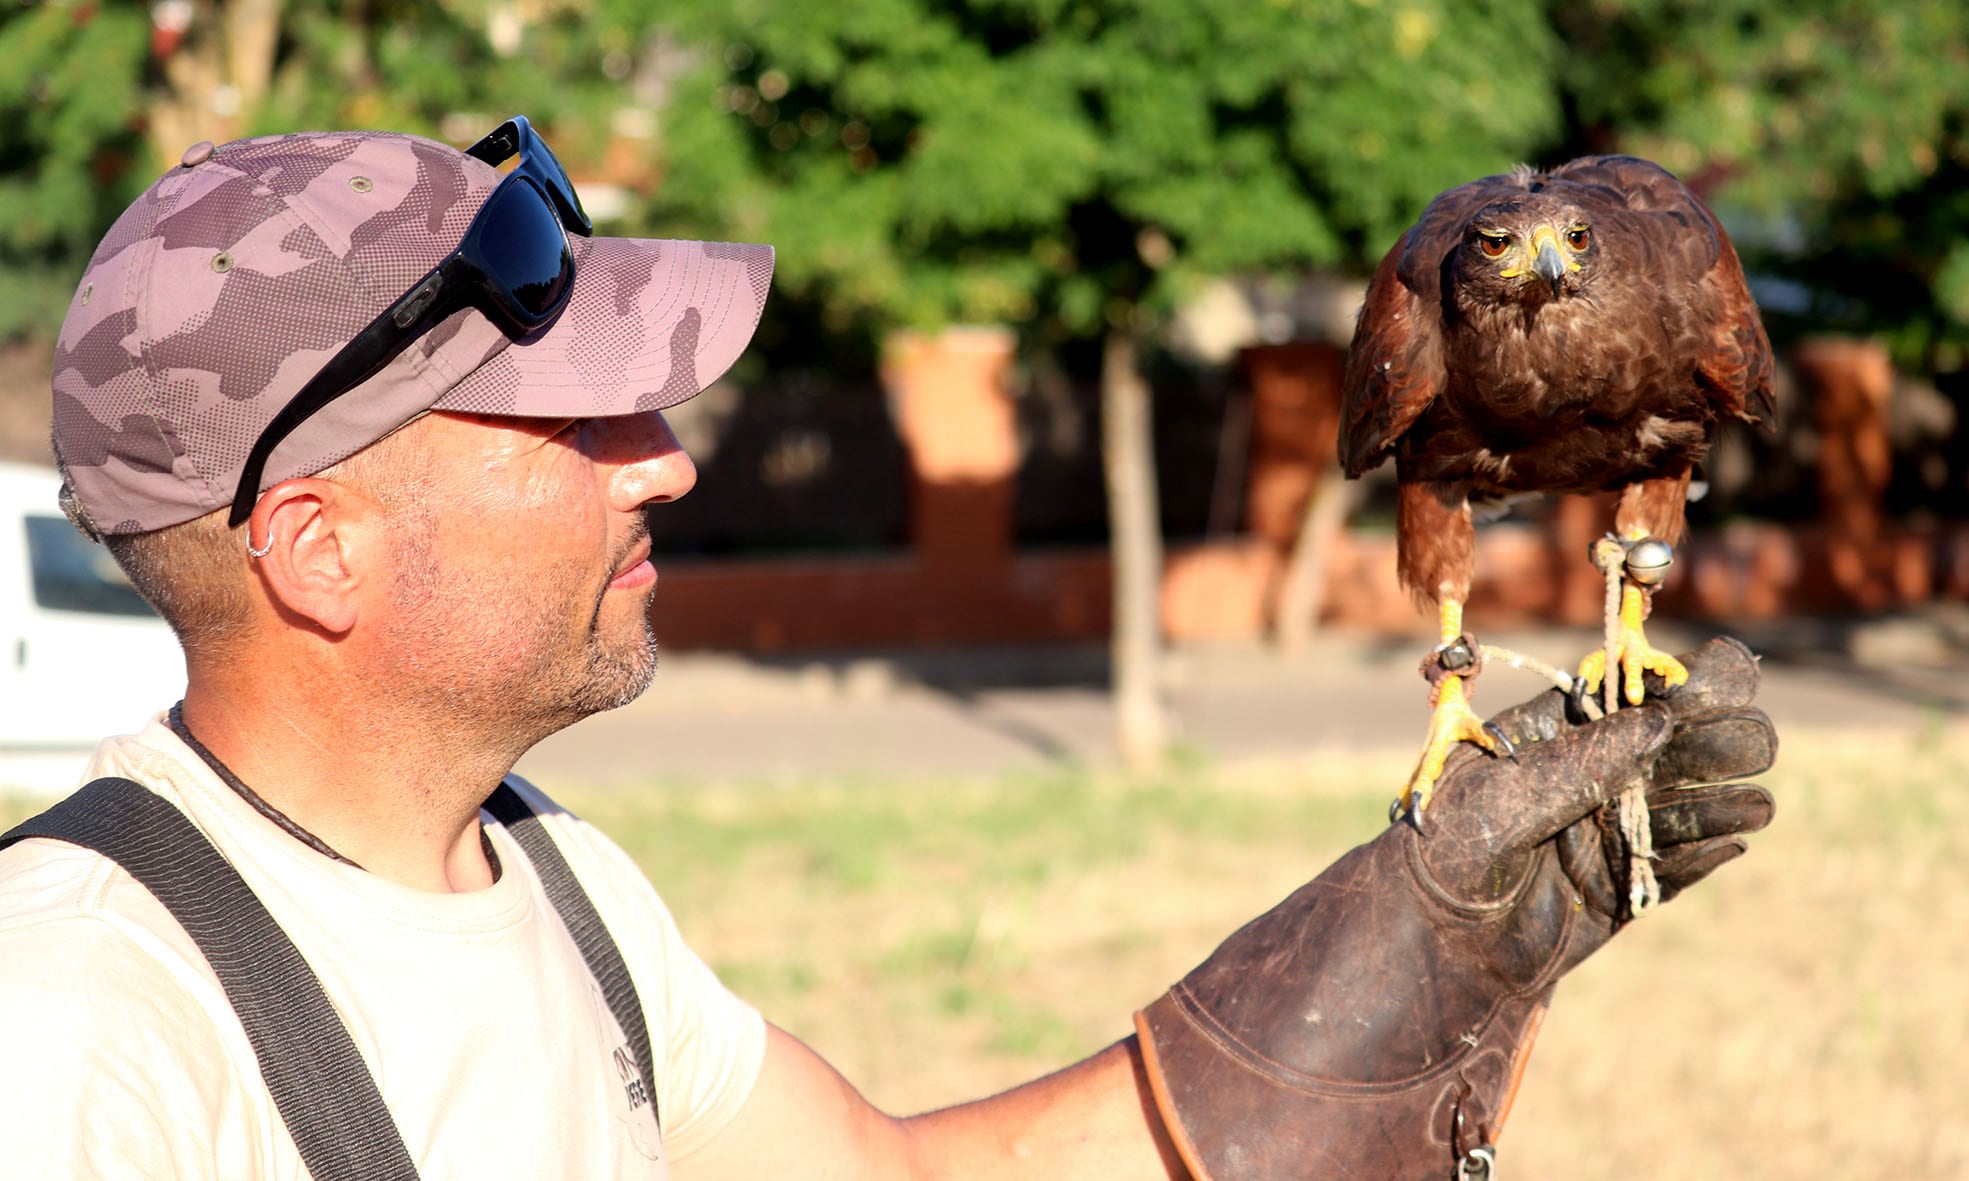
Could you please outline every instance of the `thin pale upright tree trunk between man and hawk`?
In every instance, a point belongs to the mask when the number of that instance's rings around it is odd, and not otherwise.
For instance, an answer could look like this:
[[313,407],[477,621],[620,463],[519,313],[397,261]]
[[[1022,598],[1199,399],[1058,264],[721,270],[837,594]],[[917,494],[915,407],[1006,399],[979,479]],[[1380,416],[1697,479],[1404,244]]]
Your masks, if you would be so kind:
[[1114,561],[1114,742],[1130,768],[1162,758],[1162,524],[1154,419],[1132,325],[1109,327],[1101,354],[1101,463]]

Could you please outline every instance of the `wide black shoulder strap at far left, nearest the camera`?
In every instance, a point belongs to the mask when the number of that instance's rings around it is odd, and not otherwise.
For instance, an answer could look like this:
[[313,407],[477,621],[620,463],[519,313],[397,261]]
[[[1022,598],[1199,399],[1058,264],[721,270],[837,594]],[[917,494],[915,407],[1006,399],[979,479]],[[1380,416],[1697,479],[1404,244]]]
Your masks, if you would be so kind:
[[96,779],[0,837],[0,848],[28,837],[108,856],[185,927],[246,1026],[315,1181],[415,1181],[404,1136],[315,970],[185,813],[130,779]]

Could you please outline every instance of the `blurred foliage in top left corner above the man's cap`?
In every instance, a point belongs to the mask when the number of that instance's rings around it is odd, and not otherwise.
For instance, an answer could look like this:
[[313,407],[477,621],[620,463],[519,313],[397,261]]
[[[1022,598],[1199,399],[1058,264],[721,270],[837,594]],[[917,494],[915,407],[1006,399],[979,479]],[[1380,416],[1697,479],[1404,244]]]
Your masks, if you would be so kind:
[[201,138],[382,126],[467,140],[524,110],[599,157],[628,94],[585,4],[0,0],[0,341],[51,335],[110,220]]

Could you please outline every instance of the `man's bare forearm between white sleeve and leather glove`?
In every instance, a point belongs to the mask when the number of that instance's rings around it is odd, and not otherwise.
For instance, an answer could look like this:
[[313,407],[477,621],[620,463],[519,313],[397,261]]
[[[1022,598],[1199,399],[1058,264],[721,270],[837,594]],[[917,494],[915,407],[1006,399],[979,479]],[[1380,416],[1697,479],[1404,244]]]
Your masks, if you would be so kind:
[[1004,1094],[896,1118],[776,1026],[766,1029],[752,1096],[671,1173],[677,1181],[1189,1175],[1156,1116],[1134,1037]]

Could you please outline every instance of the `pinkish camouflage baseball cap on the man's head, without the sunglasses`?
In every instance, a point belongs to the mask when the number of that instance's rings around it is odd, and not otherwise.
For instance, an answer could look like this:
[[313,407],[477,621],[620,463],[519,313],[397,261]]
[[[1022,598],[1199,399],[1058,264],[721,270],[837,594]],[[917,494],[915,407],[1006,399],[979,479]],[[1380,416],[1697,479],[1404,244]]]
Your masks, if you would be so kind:
[[[502,173],[390,132],[264,136],[185,154],[96,246],[55,346],[55,455],[100,533],[232,502],[268,421],[465,236]],[[260,488],[429,409],[616,415],[675,405],[744,350],[772,248],[569,238],[543,333],[461,311],[282,441]]]

